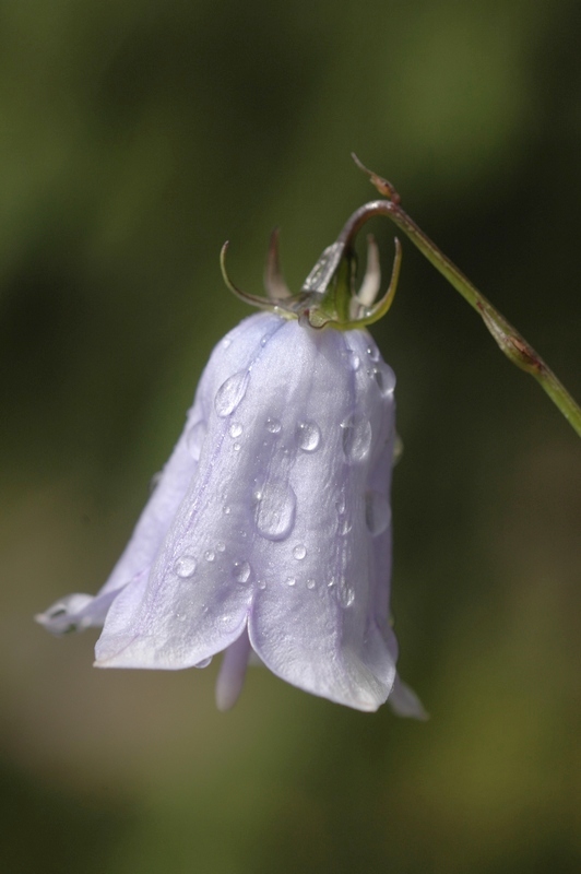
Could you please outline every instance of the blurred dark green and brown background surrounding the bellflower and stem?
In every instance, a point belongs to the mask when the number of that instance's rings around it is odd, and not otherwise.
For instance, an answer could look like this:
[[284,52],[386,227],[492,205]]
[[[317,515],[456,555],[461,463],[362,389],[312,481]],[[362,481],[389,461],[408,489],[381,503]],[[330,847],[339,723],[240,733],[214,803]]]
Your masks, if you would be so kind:
[[[581,864],[581,445],[404,244],[393,611],[431,719],[253,670],[98,672],[32,615],[94,592],[208,355],[374,190],[581,397],[576,0],[0,7],[0,858],[10,874]],[[386,267],[393,228],[378,225]]]

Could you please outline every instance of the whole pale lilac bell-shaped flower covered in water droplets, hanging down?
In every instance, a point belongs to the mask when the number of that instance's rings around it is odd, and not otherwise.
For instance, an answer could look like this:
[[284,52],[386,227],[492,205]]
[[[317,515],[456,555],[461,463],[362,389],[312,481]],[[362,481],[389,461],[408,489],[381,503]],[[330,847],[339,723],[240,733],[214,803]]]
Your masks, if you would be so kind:
[[252,299],[268,311],[212,353],[107,583],[37,617],[56,634],[103,625],[97,666],[204,668],[223,652],[226,709],[254,654],[332,701],[424,716],[398,677],[389,612],[395,378],[365,330],[375,255],[337,318],[351,258],[345,241],[330,247],[290,297],[273,239],[270,297]]

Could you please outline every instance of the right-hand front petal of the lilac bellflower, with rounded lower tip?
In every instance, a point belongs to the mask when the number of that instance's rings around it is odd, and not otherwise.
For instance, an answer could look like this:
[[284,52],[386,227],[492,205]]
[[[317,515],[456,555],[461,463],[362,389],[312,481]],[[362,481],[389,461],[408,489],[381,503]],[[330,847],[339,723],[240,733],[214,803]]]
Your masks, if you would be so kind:
[[[363,710],[386,700],[395,674],[375,617],[376,589],[389,592],[389,539],[379,580],[366,519],[369,470],[392,447],[393,400],[369,366],[369,340],[290,322],[269,344],[272,358],[257,364],[261,386],[272,370],[262,416],[277,427],[266,485],[280,496],[278,527],[289,494],[296,513],[284,538],[273,535],[274,523],[270,536],[261,531],[257,518],[260,584],[249,617],[252,647],[274,673]],[[388,487],[389,475],[386,495]]]

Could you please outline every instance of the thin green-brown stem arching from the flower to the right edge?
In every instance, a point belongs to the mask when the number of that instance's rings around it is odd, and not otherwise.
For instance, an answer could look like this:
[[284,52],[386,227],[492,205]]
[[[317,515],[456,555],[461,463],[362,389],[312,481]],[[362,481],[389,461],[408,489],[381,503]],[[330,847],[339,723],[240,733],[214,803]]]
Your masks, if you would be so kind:
[[[455,264],[436,246],[435,243],[416,225],[404,210],[400,206],[400,197],[393,186],[386,179],[368,170],[355,157],[356,164],[370,177],[377,190],[389,198],[389,200],[378,200],[367,203],[358,210],[355,216],[360,214],[359,221],[363,224],[370,214],[387,215],[399,228],[412,240],[428,261],[438,270],[444,279],[460,292],[473,309],[478,312],[489,332],[510,361],[522,370],[531,374],[546,391],[550,400],[560,410],[565,418],[576,429],[581,437],[581,406],[569,394],[565,386],[557,379],[553,370],[545,364],[543,358],[534,351],[526,340],[507,321],[501,312],[490,304],[490,302],[476,288],[475,285],[460,271]],[[365,217],[364,217],[365,211]],[[355,218],[354,216],[354,218]],[[356,220],[357,221],[357,220]]]

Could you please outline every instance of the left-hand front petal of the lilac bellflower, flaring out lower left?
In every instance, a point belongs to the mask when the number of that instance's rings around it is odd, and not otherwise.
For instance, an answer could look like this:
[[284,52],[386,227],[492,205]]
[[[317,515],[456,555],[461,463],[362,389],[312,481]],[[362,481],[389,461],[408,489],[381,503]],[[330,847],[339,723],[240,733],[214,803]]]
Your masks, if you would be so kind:
[[240,636],[256,583],[249,517],[262,462],[256,447],[240,451],[245,426],[233,415],[253,422],[249,375],[264,339],[284,324],[274,316],[252,316],[212,354],[197,395],[208,425],[199,471],[149,579],[128,586],[109,611],[96,647],[99,666],[187,668]]

